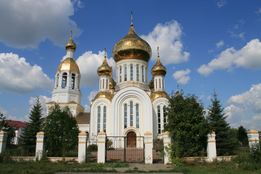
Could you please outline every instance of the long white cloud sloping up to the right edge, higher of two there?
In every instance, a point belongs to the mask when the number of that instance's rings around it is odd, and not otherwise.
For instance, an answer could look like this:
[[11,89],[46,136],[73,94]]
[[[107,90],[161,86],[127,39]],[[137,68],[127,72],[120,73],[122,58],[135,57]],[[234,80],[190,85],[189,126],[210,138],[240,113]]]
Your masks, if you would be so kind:
[[213,59],[208,65],[201,65],[197,69],[201,75],[208,76],[214,70],[231,71],[233,68],[243,67],[246,69],[261,69],[261,43],[259,39],[253,39],[240,50],[234,47],[222,51],[216,59]]

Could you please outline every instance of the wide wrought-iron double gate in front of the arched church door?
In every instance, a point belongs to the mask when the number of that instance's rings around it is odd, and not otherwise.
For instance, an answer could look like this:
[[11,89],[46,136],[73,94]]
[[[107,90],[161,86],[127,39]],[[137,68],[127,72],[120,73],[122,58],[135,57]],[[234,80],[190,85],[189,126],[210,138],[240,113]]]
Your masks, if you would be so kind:
[[144,137],[107,137],[106,161],[143,163]]

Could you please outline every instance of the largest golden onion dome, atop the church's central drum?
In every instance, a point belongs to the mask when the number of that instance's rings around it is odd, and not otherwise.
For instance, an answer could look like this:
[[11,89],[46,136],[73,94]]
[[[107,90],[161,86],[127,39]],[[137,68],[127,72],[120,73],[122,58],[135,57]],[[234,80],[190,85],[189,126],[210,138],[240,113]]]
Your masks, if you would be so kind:
[[130,25],[128,34],[114,45],[112,57],[115,62],[124,59],[141,59],[149,62],[151,48],[145,40],[136,34],[133,25]]

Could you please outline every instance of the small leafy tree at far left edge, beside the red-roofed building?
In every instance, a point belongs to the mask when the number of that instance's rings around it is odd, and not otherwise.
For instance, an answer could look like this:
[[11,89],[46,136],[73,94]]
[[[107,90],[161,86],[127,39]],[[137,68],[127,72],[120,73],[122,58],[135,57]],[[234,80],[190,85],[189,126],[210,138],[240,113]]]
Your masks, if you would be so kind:
[[[11,120],[9,120],[11,121]],[[9,125],[6,122],[6,117],[4,117],[3,113],[0,113],[0,131],[5,131],[7,133],[6,144],[10,145],[14,143],[15,138],[15,125]]]

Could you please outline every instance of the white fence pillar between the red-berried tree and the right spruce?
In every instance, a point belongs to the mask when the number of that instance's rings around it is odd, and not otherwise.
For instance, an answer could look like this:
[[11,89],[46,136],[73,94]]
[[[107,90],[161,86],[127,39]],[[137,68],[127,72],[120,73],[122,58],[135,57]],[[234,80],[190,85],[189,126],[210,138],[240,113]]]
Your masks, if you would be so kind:
[[216,134],[212,132],[208,134],[208,141],[207,141],[207,154],[208,154],[208,161],[212,162],[213,159],[216,158]]

